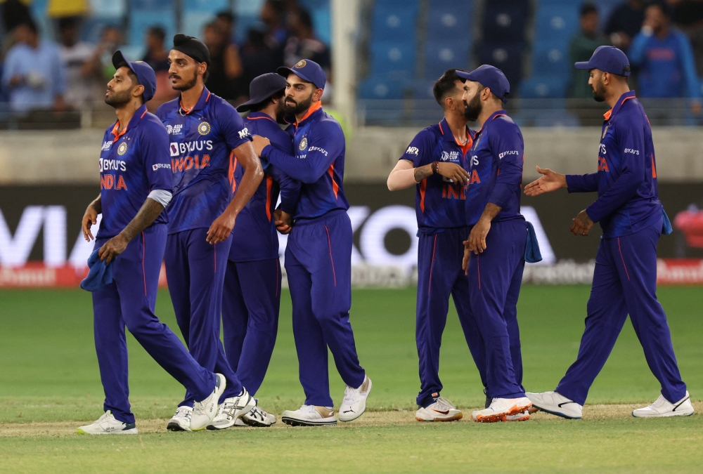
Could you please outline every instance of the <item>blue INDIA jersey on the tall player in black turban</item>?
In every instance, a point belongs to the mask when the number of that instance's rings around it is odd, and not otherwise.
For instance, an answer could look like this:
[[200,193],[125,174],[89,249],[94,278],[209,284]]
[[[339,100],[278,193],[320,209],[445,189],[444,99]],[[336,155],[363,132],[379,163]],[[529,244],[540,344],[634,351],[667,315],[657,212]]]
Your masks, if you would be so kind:
[[170,136],[174,197],[168,232],[209,228],[232,200],[233,150],[251,135],[234,107],[207,88],[188,112],[179,97],[156,114]]

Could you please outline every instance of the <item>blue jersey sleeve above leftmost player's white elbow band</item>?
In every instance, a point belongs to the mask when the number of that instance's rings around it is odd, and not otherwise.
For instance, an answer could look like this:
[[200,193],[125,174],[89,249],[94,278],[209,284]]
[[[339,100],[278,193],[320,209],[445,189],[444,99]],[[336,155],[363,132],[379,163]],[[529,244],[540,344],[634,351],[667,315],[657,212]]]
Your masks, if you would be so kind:
[[149,190],[173,191],[173,171],[169,156],[169,134],[162,124],[150,123],[140,138]]

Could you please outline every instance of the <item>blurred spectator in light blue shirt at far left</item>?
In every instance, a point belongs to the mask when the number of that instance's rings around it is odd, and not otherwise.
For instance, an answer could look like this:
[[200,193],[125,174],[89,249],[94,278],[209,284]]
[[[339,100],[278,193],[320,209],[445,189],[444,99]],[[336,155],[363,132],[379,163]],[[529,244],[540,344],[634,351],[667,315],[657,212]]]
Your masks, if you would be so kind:
[[5,58],[2,86],[17,112],[66,109],[66,70],[56,44],[40,39],[37,24],[27,20],[15,27],[17,44]]

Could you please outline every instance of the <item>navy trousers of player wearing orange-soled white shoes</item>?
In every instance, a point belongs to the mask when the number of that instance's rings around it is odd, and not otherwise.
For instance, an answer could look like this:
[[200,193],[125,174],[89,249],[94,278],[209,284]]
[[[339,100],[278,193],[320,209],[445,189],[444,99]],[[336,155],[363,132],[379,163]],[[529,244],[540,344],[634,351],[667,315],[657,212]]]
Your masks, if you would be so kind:
[[484,341],[489,397],[524,397],[517,298],[527,246],[523,219],[491,223],[486,250],[471,254],[469,298]]

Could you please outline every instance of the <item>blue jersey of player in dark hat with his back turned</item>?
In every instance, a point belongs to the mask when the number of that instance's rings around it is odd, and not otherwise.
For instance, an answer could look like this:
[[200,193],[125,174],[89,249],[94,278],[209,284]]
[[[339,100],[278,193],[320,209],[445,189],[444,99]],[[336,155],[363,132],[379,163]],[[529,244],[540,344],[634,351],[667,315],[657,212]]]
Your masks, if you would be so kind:
[[[271,145],[288,155],[293,154],[292,137],[280,129],[278,123],[262,112],[250,112],[244,121],[252,135],[271,140]],[[236,159],[235,159],[236,162]],[[273,220],[280,192],[280,209],[293,214],[297,206],[300,183],[280,172],[272,164],[264,166],[266,176],[244,209],[237,216],[232,230],[232,246],[229,259],[233,262],[249,262],[278,258],[278,235]],[[244,169],[235,164],[233,192],[241,183]]]

